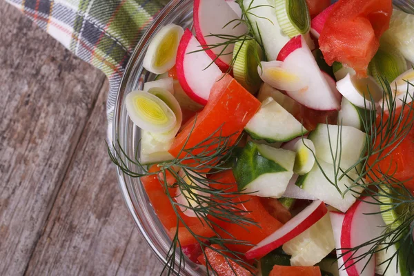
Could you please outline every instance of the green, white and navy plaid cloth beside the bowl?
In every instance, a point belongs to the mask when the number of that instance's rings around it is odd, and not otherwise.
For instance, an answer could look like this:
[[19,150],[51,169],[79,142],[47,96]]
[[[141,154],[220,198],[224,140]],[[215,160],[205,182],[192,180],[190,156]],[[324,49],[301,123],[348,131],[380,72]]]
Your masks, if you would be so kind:
[[[130,53],[168,0],[6,0],[109,79],[108,133]],[[109,135],[108,135],[109,136]]]

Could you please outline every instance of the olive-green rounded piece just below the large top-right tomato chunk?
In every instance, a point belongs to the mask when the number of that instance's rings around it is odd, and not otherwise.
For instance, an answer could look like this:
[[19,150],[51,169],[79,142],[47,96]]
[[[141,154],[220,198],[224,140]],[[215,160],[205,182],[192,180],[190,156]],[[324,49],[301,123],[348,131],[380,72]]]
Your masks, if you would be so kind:
[[368,65],[369,75],[373,76],[380,86],[384,85],[380,77],[391,83],[406,70],[408,70],[407,63],[402,53],[384,41]]

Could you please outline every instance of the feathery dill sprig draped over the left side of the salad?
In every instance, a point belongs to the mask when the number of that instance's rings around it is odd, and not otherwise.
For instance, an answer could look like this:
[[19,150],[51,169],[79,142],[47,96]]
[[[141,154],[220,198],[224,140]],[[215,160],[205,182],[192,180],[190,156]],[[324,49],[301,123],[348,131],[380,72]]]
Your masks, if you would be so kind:
[[[190,133],[193,133],[193,131]],[[253,244],[236,239],[219,224],[219,221],[224,221],[230,224],[237,224],[242,228],[252,225],[257,226],[253,219],[246,217],[249,211],[240,207],[240,204],[246,201],[234,200],[242,194],[246,195],[246,193],[239,192],[237,189],[234,190],[235,184],[222,183],[219,179],[213,180],[211,178],[219,172],[228,170],[227,164],[233,158],[233,151],[237,148],[241,138],[237,139],[233,145],[235,135],[222,135],[220,127],[195,146],[187,147],[190,136],[184,143],[179,155],[177,155],[178,157],[170,161],[160,162],[157,165],[159,168],[157,172],[150,172],[149,166],[141,164],[137,156],[139,152],[138,147],[135,151],[135,157],[131,158],[121,147],[119,141],[116,145],[113,144],[112,148],[108,146],[110,159],[125,175],[130,177],[157,175],[160,184],[164,188],[164,193],[167,195],[175,215],[177,215],[177,227],[174,235],[172,235],[171,246],[166,255],[166,265],[161,274],[179,274],[185,268],[186,255],[179,242],[180,229],[188,231],[201,246],[202,254],[206,260],[208,275],[212,272],[214,273],[214,270],[206,256],[206,248],[210,248],[210,250],[222,255],[234,273],[234,264],[238,264],[248,270],[254,270],[253,266],[242,259],[242,253],[228,248],[229,245],[235,244],[244,246],[253,246]],[[208,172],[206,172],[207,170]],[[175,183],[170,184],[168,181],[164,181],[164,179],[168,179],[168,175],[174,178]],[[177,193],[174,192],[175,190],[177,190]],[[186,199],[186,204],[176,201],[180,194]],[[186,224],[186,215],[184,215],[181,209],[193,211],[201,225],[212,230],[214,235],[206,237],[195,233]],[[221,233],[228,237],[223,237]],[[219,245],[219,248],[213,247],[213,244]]]

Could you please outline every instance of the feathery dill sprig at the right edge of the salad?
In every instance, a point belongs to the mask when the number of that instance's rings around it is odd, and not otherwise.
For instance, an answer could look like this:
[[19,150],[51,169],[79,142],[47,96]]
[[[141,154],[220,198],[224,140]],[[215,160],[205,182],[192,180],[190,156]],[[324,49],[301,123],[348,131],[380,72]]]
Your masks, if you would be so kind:
[[[328,128],[328,144],[331,150],[331,157],[335,171],[334,179],[330,179],[324,172],[322,166],[316,159],[316,164],[319,166],[322,174],[326,179],[337,188],[338,192],[344,196],[348,192],[352,192],[355,197],[369,196],[374,202],[366,201],[369,204],[376,204],[382,206],[379,213],[371,215],[382,214],[390,211],[395,211],[398,217],[393,223],[388,224],[382,230],[382,235],[365,242],[354,248],[340,248],[342,254],[338,257],[344,257],[344,267],[352,260],[353,264],[358,262],[368,262],[375,256],[375,253],[380,253],[382,250],[389,250],[391,246],[397,245],[396,252],[388,257],[382,265],[384,265],[385,272],[388,269],[397,269],[391,267],[393,260],[400,260],[400,256],[405,257],[404,262],[406,268],[410,273],[414,273],[414,265],[410,263],[414,256],[414,196],[405,186],[406,181],[400,181],[395,177],[397,172],[396,163],[393,163],[391,153],[406,139],[409,132],[411,132],[414,125],[414,101],[413,95],[410,95],[408,88],[414,86],[413,83],[407,82],[407,91],[403,99],[398,99],[397,88],[391,88],[385,78],[379,77],[383,88],[382,105],[377,105],[377,115],[368,112],[368,116],[359,117],[362,120],[363,130],[366,132],[365,148],[359,159],[349,168],[342,168],[342,122],[339,122],[337,133],[329,133]],[[375,106],[375,101],[371,96],[371,92],[367,88],[367,95],[371,100],[371,105]],[[401,104],[398,101],[401,101]],[[367,106],[365,106],[367,109]],[[358,110],[359,112],[359,110]],[[335,136],[336,135],[336,136]],[[333,148],[333,141],[336,141],[336,147]],[[305,144],[306,145],[306,144]],[[312,151],[311,148],[309,150]],[[390,159],[390,164],[387,170],[380,169],[380,163],[386,158]],[[346,190],[339,190],[337,181],[347,177],[353,181],[353,185]],[[356,187],[363,188],[362,192],[356,190]],[[362,200],[358,198],[358,200]],[[368,214],[367,214],[368,215]],[[373,226],[374,227],[374,226]],[[366,253],[359,253],[361,248],[368,248]],[[351,264],[351,265],[353,265]],[[364,266],[364,268],[365,268]],[[384,273],[385,273],[384,272]]]

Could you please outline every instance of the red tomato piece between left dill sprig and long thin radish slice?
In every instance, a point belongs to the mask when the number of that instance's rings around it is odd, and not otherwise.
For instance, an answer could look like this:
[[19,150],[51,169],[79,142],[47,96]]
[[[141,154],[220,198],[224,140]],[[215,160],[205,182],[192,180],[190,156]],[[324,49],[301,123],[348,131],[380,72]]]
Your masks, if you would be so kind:
[[[231,170],[226,170],[224,172],[214,174],[211,176],[211,179],[220,182],[220,184],[210,184],[210,186],[213,186],[214,188],[229,189],[230,186],[231,190],[229,190],[229,193],[232,191],[237,191],[237,184]],[[228,239],[238,239],[255,245],[261,242],[262,239],[268,235],[275,232],[275,230],[282,227],[283,224],[275,219],[275,217],[270,215],[266,208],[264,208],[263,204],[260,202],[259,197],[255,197],[253,195],[239,195],[238,197],[232,195],[231,197],[231,200],[233,202],[238,203],[238,208],[249,212],[246,213],[245,216],[257,222],[257,225],[248,224],[246,226],[239,226],[237,224],[230,224],[225,221],[214,219],[215,222],[224,229],[221,230],[218,227],[215,229],[217,230],[217,233],[221,235],[221,237]],[[233,237],[231,235],[233,235]],[[227,244],[226,246],[228,246],[228,248],[231,250],[240,253],[245,253],[247,250],[253,247],[240,244]]]

